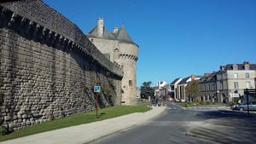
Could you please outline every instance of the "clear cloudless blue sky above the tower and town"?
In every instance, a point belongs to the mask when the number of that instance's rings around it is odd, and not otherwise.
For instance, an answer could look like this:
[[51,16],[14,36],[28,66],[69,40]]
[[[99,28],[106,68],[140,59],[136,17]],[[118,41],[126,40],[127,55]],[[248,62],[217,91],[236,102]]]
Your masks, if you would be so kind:
[[145,81],[256,63],[255,0],[44,0],[88,33],[98,17],[125,26],[139,45],[137,86]]

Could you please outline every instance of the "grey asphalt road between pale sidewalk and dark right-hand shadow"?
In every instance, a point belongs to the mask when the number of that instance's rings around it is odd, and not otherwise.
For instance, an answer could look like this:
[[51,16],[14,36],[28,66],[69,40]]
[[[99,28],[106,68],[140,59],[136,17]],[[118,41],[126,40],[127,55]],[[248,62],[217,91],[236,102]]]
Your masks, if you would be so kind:
[[[216,109],[183,109],[175,104],[167,104],[166,112],[148,123],[121,130],[113,135],[91,141],[93,144],[170,144],[170,143],[215,143],[187,135],[207,119],[221,115]],[[208,112],[208,114],[206,114]]]

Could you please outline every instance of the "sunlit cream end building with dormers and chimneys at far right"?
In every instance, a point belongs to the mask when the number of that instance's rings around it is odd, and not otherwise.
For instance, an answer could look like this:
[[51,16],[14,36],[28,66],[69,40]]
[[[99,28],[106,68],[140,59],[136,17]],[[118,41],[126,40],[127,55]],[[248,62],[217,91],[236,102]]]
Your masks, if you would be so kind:
[[256,64],[244,62],[220,66],[217,91],[223,102],[244,95],[244,89],[255,89]]

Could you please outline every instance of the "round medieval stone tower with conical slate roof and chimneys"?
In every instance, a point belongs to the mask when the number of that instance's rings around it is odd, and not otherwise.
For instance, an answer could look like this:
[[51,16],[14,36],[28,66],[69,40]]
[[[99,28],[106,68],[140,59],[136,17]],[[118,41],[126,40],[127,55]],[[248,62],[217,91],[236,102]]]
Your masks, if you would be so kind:
[[102,54],[123,67],[121,103],[136,105],[138,45],[131,40],[124,26],[115,27],[113,32],[108,32],[102,18],[98,19],[97,26],[88,33],[88,37]]

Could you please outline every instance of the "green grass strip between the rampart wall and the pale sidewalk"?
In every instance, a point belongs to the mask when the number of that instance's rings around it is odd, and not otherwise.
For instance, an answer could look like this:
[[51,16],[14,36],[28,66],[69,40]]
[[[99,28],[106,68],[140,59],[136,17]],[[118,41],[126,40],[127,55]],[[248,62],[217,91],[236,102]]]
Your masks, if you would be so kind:
[[0,141],[7,141],[15,138],[19,138],[26,135],[34,135],[44,131],[57,130],[79,124],[88,124],[96,121],[101,121],[108,118],[115,118],[130,114],[133,112],[147,112],[150,107],[136,107],[136,106],[117,106],[100,109],[98,111],[99,118],[96,119],[96,111],[84,112],[75,114],[67,118],[60,118],[51,120],[42,124],[36,124],[29,126],[25,129],[15,130],[15,132],[9,135],[0,135]]

